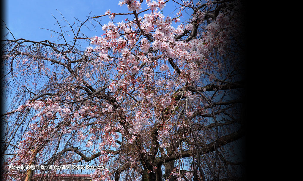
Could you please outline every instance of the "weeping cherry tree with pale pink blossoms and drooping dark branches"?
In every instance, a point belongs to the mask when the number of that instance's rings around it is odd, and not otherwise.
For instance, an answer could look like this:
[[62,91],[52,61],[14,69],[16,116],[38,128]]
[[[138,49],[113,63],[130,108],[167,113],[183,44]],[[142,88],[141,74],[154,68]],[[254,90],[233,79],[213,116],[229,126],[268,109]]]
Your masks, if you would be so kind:
[[[56,42],[2,41],[2,79],[15,94],[2,115],[5,179],[24,180],[26,170],[8,165],[32,163],[106,165],[94,180],[241,179],[242,4],[173,0],[165,17],[167,2],[122,0],[129,13],[72,25],[63,18]],[[103,16],[126,19],[102,26]],[[104,33],[86,37],[87,25]],[[82,40],[92,45],[83,50]],[[48,180],[74,171],[34,173]]]

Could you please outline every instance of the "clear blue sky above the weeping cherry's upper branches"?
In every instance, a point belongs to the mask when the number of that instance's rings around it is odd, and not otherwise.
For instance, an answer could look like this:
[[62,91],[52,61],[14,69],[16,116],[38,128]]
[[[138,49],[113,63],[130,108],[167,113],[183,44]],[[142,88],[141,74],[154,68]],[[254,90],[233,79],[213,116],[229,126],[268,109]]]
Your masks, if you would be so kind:
[[[75,18],[84,21],[89,13],[91,13],[91,16],[104,15],[107,9],[110,9],[111,12],[128,12],[126,5],[120,7],[118,3],[119,0],[6,0],[4,3],[4,21],[16,39],[25,38],[32,41],[47,39],[52,41],[51,32],[40,28],[58,30],[58,25],[55,25],[55,18],[57,18],[58,21],[62,20],[59,12],[61,12],[70,23],[73,23]],[[142,6],[143,5],[145,6],[145,1],[142,3]],[[175,10],[175,5],[177,4],[172,1],[166,3],[163,12],[165,16]],[[144,10],[144,8],[145,7],[142,7],[142,10]],[[143,16],[143,14],[141,16]],[[122,19],[116,16],[114,22],[121,20]],[[111,21],[108,16],[103,17],[101,24],[104,25],[108,23],[108,21]],[[98,35],[99,33],[103,34],[103,31],[101,29],[99,32],[87,31],[89,37]],[[11,36],[8,38],[12,39]]]

